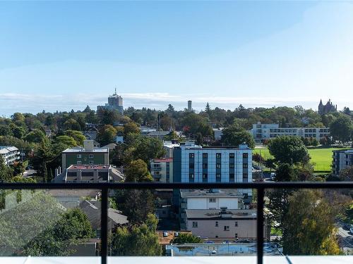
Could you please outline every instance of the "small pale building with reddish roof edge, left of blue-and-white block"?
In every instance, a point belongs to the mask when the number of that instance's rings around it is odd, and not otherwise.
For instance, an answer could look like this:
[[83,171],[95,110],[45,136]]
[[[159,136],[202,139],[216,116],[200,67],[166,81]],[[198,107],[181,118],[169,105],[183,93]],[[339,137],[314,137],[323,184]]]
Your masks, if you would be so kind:
[[153,158],[150,172],[155,182],[173,182],[173,158]]

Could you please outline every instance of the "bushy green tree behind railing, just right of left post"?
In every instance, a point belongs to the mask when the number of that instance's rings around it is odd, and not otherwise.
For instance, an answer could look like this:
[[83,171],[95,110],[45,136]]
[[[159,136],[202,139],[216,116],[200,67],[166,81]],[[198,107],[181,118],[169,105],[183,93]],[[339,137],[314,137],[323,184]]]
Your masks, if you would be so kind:
[[112,234],[113,256],[161,256],[157,235],[158,220],[149,214],[147,220],[132,227],[118,227]]

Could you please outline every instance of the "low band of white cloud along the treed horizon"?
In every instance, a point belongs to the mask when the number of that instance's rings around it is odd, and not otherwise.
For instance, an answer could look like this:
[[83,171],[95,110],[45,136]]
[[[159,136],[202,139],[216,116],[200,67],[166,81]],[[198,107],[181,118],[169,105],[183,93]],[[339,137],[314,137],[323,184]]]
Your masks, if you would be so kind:
[[[314,108],[318,105],[316,97],[263,97],[263,96],[215,96],[213,94],[186,94],[179,96],[169,93],[124,93],[124,108],[133,106],[135,108],[156,108],[164,110],[169,103],[177,109],[187,107],[187,101],[193,101],[193,108],[201,110],[205,108],[206,102],[211,106],[233,110],[239,104],[245,107],[272,107],[272,106],[297,106]],[[15,112],[38,113],[42,110],[47,112],[71,111],[71,109],[83,110],[85,106],[96,109],[97,105],[107,102],[107,95],[102,94],[0,94],[0,115],[11,115]],[[339,108],[345,106],[345,98],[337,103]]]

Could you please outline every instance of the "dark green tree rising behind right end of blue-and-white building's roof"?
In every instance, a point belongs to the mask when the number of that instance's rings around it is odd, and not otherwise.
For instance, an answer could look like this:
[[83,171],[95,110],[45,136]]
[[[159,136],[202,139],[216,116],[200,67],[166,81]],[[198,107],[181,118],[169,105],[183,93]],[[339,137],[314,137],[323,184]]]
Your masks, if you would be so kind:
[[251,149],[255,147],[253,136],[239,125],[231,125],[222,130],[221,142],[225,146],[239,146],[245,143]]

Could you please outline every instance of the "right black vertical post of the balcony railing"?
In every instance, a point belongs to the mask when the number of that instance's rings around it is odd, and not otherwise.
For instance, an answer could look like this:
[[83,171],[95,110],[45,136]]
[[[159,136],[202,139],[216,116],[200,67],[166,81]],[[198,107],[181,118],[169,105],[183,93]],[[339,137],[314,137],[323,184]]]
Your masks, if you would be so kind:
[[257,215],[258,220],[257,224],[257,253],[258,253],[258,264],[263,264],[263,199],[264,199],[264,189],[263,187],[258,187],[258,207],[257,207]]

